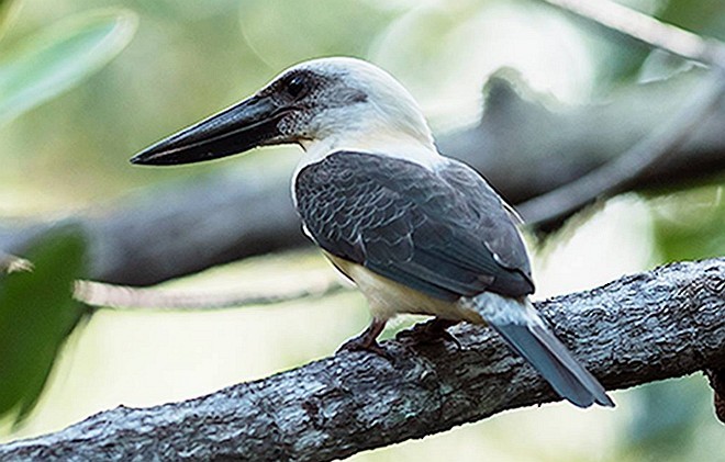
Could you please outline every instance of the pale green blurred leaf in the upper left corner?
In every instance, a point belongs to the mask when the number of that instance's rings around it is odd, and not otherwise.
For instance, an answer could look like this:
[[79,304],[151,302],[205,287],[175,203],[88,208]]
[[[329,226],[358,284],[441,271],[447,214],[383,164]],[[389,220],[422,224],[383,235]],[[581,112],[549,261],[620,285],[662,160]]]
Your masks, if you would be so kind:
[[60,21],[0,60],[0,125],[67,91],[131,41],[136,15],[127,10],[90,11]]

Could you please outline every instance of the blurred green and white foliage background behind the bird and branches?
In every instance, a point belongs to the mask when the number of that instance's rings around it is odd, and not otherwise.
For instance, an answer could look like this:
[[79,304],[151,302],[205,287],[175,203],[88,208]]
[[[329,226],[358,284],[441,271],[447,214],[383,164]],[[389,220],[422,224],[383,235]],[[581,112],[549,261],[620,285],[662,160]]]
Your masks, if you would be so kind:
[[[725,40],[725,2],[626,3]],[[0,217],[109,213],[153,195],[154,185],[258,162],[291,172],[294,148],[189,169],[140,169],[127,159],[282,68],[325,55],[387,68],[437,133],[476,121],[483,82],[502,66],[561,104],[598,101],[663,71],[649,49],[535,0],[0,0]],[[721,181],[610,201],[535,252],[537,296],[725,255],[722,193]],[[0,277],[3,441],[119,404],[147,406],[264,378],[330,354],[367,324],[356,293],[204,313],[100,309],[89,317],[63,289],[86,271],[83,237],[72,224],[23,256],[34,272]],[[274,290],[332,273],[316,252],[299,251],[170,285]],[[353,459],[725,461],[711,399],[696,374],[615,393],[614,412],[546,405]]]

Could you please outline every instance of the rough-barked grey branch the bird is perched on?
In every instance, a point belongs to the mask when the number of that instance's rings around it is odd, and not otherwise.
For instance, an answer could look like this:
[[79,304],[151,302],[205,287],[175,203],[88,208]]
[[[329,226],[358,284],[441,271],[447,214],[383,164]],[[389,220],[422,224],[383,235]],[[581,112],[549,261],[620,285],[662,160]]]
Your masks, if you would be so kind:
[[[610,390],[725,367],[725,258],[676,263],[537,304]],[[383,343],[183,403],[120,407],[57,433],[4,444],[2,460],[343,458],[555,401],[489,329],[462,343]]]

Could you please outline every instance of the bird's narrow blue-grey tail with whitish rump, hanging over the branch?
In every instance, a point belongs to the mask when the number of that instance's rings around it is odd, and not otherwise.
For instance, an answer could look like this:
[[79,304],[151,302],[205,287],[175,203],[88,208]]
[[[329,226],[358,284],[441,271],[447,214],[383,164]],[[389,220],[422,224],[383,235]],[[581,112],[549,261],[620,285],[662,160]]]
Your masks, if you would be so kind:
[[484,293],[473,298],[473,306],[561,397],[579,407],[594,403],[614,406],[604,387],[546,327],[527,298]]

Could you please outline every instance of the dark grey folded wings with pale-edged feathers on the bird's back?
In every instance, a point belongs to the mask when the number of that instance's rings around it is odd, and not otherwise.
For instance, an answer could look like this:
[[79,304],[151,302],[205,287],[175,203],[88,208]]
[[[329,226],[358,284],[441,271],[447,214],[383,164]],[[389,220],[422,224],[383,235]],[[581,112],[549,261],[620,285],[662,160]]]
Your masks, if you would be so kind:
[[469,167],[339,151],[304,167],[297,209],[326,251],[443,300],[534,291],[499,195]]

